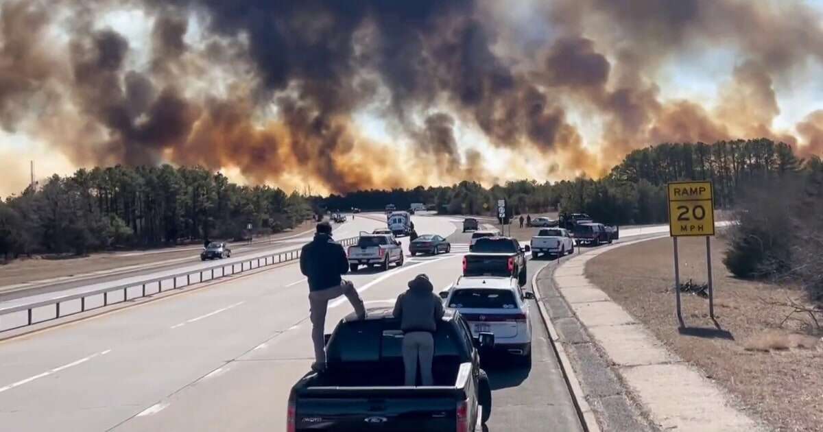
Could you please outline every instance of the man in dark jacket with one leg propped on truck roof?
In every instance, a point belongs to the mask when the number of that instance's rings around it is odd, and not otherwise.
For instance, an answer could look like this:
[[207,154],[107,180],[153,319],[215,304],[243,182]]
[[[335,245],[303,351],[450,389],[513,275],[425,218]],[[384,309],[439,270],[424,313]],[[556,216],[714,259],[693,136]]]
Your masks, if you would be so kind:
[[332,225],[328,222],[317,224],[314,239],[303,246],[300,253],[300,272],[309,280],[309,308],[311,309],[311,339],[314,344],[314,364],[311,368],[322,370],[326,367],[326,342],[323,330],[329,300],[346,295],[355,309],[357,318],[365,318],[365,307],[351,281],[343,281],[340,275],[349,271],[346,251],[332,239]]

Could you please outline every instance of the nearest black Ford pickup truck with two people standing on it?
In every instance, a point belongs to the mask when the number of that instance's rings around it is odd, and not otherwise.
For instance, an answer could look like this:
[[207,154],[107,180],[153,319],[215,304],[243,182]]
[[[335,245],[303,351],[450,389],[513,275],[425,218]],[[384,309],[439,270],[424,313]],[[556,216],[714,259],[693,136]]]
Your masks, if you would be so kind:
[[391,308],[368,309],[367,318],[344,318],[327,335],[327,367],[291,388],[288,432],[470,432],[491,416],[491,387],[479,350],[494,346],[491,333],[472,331],[447,310],[435,332],[435,385],[403,386],[400,322]]

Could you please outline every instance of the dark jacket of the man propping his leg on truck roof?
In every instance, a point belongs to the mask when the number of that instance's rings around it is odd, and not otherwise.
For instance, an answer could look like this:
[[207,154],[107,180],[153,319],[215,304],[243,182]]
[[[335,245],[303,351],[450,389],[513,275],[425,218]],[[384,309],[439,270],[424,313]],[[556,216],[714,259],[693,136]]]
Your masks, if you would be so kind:
[[334,243],[331,235],[316,234],[300,253],[300,272],[309,278],[309,291],[340,285],[340,275],[349,271],[346,251]]

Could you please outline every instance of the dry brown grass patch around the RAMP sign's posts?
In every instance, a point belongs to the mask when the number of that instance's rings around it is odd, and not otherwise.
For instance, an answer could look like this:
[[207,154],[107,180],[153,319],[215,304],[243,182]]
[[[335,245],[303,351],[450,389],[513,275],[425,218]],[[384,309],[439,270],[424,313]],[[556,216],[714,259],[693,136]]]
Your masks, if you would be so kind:
[[[792,309],[778,305],[801,299],[802,293],[732,277],[723,267],[725,242],[714,238],[712,243],[715,315],[728,333],[711,331],[708,300],[686,294],[686,325],[707,330],[690,332],[700,336],[678,331],[672,239],[603,253],[588,262],[586,275],[776,430],[823,430],[823,335],[802,314],[783,322]],[[680,257],[681,282],[707,280],[704,239],[681,239]]]

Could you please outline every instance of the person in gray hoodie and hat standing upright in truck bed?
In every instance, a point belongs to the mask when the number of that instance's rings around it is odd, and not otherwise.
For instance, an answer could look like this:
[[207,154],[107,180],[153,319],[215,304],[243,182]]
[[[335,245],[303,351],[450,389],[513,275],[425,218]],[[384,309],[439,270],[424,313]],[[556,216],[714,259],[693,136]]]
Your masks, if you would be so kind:
[[434,385],[431,362],[435,357],[435,332],[443,318],[443,302],[434,293],[429,276],[417,275],[408,283],[409,289],[398,296],[394,317],[400,319],[403,332],[403,367],[407,386],[416,384],[417,365],[420,364],[421,383]]

